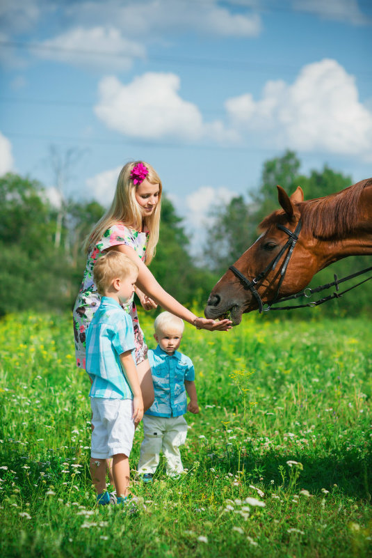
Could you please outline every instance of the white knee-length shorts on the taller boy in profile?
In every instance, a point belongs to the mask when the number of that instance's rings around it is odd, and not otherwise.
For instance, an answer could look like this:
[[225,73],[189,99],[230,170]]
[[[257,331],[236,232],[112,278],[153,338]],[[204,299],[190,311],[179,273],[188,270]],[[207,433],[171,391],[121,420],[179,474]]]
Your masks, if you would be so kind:
[[133,401],[91,397],[92,449],[95,459],[106,459],[117,454],[129,457],[134,438]]

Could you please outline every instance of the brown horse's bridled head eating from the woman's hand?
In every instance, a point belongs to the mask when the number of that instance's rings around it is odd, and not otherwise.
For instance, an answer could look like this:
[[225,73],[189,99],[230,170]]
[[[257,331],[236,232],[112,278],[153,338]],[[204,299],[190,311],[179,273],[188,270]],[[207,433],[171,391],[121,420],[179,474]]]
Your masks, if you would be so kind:
[[[234,263],[232,268],[235,270],[229,268],[214,286],[204,309],[207,318],[229,316],[233,324],[237,325],[243,313],[261,307],[261,303],[270,303],[279,297],[298,293],[309,284],[316,272],[317,258],[312,253],[309,239],[305,245],[301,237],[298,238],[296,249],[292,248],[289,261],[286,262],[290,250],[288,240],[291,233],[300,228],[299,204],[304,199],[302,189],[298,187],[291,196],[280,186],[277,186],[277,190],[282,210],[271,213],[261,222],[259,228],[262,233],[259,238]],[[282,277],[284,265],[285,276]]]

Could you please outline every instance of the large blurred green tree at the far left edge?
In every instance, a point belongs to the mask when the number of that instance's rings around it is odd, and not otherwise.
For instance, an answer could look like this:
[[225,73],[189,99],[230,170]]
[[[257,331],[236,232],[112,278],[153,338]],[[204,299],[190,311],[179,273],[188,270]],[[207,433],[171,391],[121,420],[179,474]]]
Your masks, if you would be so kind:
[[0,315],[67,302],[69,266],[54,247],[56,223],[40,183],[0,178]]

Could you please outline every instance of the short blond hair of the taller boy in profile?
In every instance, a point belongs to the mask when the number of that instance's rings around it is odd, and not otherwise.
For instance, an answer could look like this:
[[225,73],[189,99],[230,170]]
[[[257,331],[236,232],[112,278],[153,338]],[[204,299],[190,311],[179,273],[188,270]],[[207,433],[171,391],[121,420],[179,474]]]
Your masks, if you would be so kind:
[[111,250],[96,261],[93,279],[99,294],[104,295],[114,279],[124,279],[130,273],[138,275],[138,266],[125,254]]

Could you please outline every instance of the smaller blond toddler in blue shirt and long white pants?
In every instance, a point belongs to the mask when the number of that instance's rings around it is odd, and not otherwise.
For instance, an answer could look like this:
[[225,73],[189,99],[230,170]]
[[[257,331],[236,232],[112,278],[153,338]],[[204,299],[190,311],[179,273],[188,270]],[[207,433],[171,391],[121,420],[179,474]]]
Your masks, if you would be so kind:
[[[159,314],[154,323],[154,338],[159,343],[148,357],[154,382],[155,400],[143,415],[144,440],[140,447],[138,472],[151,482],[163,451],[166,471],[177,477],[183,472],[179,446],[185,443],[186,410],[198,413],[195,371],[189,357],[177,349],[184,332],[184,322],[170,312]],[[187,405],[186,392],[190,396]]]

